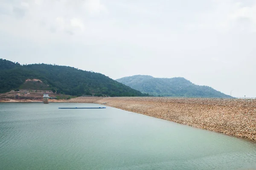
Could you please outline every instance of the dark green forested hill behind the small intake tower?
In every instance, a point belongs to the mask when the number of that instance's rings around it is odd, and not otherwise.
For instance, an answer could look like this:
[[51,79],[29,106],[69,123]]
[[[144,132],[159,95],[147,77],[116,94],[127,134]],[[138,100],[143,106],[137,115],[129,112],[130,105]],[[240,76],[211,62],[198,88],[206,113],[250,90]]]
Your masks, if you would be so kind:
[[[0,93],[19,88],[26,79],[40,79],[58,94],[74,96],[145,96],[100,73],[48,64],[20,65],[0,59]],[[40,89],[39,89],[40,90]]]

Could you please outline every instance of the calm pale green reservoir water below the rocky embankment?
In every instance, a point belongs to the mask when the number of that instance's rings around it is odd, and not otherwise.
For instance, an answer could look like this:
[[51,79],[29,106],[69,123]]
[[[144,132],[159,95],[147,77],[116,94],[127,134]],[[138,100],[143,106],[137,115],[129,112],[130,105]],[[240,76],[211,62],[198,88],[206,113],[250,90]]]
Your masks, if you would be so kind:
[[0,103],[0,170],[256,170],[256,144],[77,103]]

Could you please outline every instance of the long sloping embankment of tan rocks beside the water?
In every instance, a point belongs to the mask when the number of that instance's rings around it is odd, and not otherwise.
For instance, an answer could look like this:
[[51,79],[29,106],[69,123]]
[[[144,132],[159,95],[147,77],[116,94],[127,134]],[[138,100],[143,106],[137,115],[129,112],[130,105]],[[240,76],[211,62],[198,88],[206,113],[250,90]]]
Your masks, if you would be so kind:
[[65,102],[105,103],[126,111],[256,140],[256,99],[78,97]]

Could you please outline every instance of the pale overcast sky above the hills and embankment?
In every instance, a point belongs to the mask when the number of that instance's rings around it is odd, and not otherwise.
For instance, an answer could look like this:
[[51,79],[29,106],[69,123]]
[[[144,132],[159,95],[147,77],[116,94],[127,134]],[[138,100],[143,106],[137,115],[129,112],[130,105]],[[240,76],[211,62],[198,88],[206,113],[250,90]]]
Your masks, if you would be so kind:
[[0,58],[256,97],[256,0],[0,0]]

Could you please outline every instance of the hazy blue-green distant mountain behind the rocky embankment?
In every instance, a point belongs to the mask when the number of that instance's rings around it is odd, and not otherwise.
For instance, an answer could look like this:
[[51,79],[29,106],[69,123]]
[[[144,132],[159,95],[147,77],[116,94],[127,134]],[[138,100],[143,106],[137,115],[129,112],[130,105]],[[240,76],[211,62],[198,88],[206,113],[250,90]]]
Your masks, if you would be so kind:
[[154,78],[136,75],[116,79],[116,81],[154,96],[231,97],[209,86],[195,85],[183,77]]

